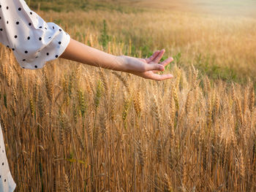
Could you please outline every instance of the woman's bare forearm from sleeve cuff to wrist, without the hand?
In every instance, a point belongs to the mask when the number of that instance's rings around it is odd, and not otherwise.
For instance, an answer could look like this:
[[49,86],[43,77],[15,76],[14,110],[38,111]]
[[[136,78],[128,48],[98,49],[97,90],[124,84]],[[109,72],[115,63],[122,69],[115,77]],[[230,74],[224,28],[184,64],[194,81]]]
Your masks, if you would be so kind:
[[94,47],[89,47],[75,39],[70,39],[69,45],[60,57],[78,61],[82,64],[100,66],[105,69],[113,69],[122,72],[126,72],[127,70],[125,62],[121,57],[105,53]]

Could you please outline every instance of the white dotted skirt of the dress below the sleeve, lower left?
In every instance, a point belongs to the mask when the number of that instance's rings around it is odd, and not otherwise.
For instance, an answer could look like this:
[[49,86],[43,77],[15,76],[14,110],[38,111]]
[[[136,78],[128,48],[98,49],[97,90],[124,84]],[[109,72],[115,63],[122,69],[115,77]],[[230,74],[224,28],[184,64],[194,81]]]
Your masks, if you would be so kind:
[[12,179],[7,155],[4,147],[4,137],[0,124],[0,192],[12,192],[15,190],[16,183]]

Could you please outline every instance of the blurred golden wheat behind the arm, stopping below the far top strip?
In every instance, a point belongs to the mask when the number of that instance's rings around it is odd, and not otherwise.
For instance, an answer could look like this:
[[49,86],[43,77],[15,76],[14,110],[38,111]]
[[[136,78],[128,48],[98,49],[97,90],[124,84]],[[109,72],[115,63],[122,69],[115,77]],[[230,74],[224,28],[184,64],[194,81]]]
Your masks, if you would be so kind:
[[[109,48],[110,53],[146,57],[165,48],[165,58],[173,56],[179,66],[193,64],[212,79],[246,82],[249,76],[256,80],[256,17],[149,8],[39,14],[59,23],[74,39],[86,45],[93,42],[91,46],[101,50]],[[108,48],[100,43],[103,20],[108,28]]]

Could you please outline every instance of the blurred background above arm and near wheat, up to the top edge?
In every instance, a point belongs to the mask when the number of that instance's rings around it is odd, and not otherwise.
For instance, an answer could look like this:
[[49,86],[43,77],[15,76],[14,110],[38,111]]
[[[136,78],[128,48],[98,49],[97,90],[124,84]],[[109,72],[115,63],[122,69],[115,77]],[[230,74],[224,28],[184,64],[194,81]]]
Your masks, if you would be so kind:
[[183,66],[195,64],[212,78],[236,82],[255,78],[256,2],[252,0],[36,0],[28,4],[45,20],[67,26],[78,40],[90,33],[103,44],[113,39],[124,45],[131,41],[131,54],[143,57],[165,48],[165,58],[173,55]]

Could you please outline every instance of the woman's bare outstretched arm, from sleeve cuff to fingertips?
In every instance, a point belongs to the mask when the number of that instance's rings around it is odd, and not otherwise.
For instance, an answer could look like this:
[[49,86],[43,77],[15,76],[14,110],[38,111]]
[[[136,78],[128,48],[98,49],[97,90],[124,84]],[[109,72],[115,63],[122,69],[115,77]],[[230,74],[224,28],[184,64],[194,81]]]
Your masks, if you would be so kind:
[[146,79],[166,80],[172,78],[173,75],[160,75],[157,74],[157,72],[164,71],[165,66],[170,64],[173,58],[167,58],[165,61],[158,64],[164,53],[165,50],[157,50],[150,58],[134,58],[125,55],[116,56],[84,45],[75,39],[70,39],[69,45],[60,57],[91,66],[100,66],[105,69],[129,72]]

